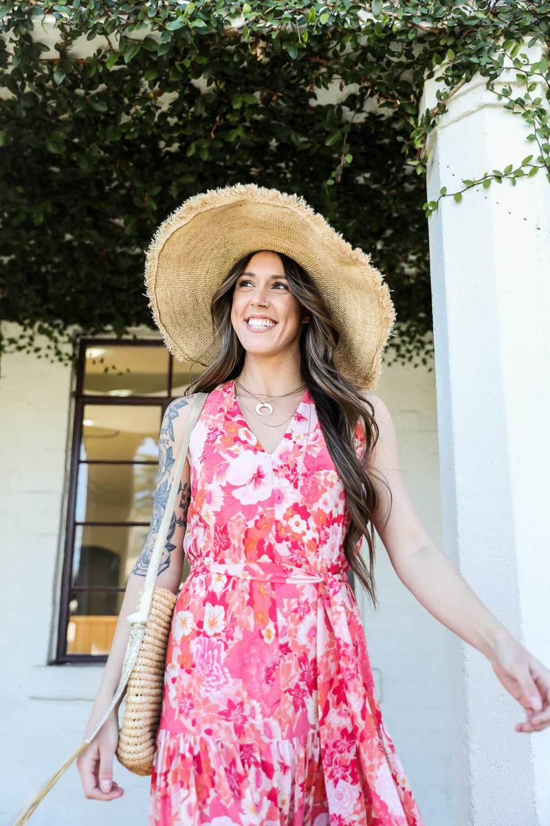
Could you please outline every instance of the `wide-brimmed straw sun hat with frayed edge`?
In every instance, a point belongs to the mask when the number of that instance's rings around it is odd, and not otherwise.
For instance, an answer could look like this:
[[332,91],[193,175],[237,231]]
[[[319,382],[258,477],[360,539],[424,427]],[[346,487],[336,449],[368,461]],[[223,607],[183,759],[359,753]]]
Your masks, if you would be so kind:
[[178,361],[214,361],[210,301],[238,260],[263,249],[289,255],[310,275],[340,333],[337,367],[372,389],[395,318],[388,286],[369,256],[302,198],[255,184],[191,197],[158,227],[145,283],[170,352]]

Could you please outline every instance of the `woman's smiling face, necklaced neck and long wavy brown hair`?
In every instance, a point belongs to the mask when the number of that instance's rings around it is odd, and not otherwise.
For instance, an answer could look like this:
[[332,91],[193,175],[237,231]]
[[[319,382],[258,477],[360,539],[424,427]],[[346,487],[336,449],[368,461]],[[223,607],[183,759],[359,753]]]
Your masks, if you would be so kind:
[[[358,396],[354,384],[336,368],[341,333],[315,278],[284,253],[249,253],[237,261],[214,292],[210,313],[220,342],[219,355],[190,391],[209,392],[233,378],[236,404],[247,427],[262,449],[274,453],[296,412],[297,394],[308,387],[352,514],[346,558],[375,601],[371,515],[378,494],[358,460],[354,439],[360,421],[368,445],[376,441],[377,428],[371,403]],[[251,319],[273,323],[266,330],[251,330]],[[366,377],[364,384],[368,382]],[[292,389],[283,392],[289,385]],[[270,401],[275,399],[277,418],[271,421]],[[361,535],[369,548],[368,567],[357,553]]]

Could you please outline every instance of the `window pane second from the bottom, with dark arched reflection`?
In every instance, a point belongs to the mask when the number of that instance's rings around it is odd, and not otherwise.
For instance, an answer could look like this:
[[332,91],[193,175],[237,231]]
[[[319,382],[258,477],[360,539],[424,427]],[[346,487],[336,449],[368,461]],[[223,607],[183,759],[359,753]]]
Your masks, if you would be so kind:
[[74,532],[73,586],[125,588],[149,526],[77,525]]

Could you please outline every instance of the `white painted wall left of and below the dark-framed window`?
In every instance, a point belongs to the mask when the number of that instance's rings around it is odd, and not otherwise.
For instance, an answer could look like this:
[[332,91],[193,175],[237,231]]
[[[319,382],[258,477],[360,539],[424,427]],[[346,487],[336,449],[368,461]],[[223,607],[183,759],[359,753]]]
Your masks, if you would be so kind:
[[[6,335],[10,328],[15,325],[2,325]],[[46,665],[63,553],[72,378],[70,368],[44,358],[0,357],[2,824],[82,742],[101,678],[101,667]],[[145,824],[148,781],[123,767],[117,767],[117,776],[126,795],[107,809],[85,800],[73,766],[40,804],[31,824]]]

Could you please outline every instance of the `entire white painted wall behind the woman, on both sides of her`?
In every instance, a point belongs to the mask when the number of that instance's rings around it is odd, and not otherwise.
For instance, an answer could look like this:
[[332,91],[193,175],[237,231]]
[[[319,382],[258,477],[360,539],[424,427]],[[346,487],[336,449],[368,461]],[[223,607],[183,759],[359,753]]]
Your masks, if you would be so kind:
[[[3,330],[9,335],[10,326]],[[151,333],[148,332],[148,337]],[[2,591],[0,822],[77,747],[101,667],[48,666],[63,553],[64,491],[72,421],[70,370],[23,354],[0,359],[0,530]],[[402,467],[430,534],[440,539],[434,373],[388,368],[378,394],[397,426]],[[381,608],[364,609],[382,710],[426,826],[462,826],[450,809],[449,765],[454,705],[449,688],[449,632],[401,585],[381,548]],[[59,781],[31,823],[40,826],[139,826],[147,822],[148,779],[116,765],[126,793],[109,804],[85,800],[75,767]]]

